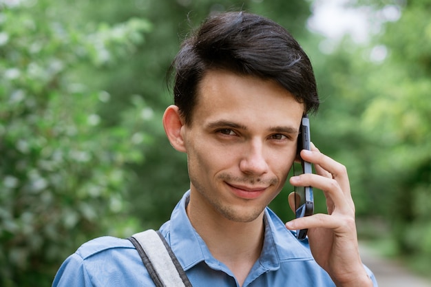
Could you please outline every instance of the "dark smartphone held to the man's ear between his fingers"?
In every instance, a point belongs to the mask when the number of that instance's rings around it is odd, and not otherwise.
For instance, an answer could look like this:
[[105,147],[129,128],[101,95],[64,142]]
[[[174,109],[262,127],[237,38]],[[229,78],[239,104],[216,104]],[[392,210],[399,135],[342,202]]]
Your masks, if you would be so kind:
[[[301,173],[312,173],[312,167],[310,162],[302,160],[299,156],[299,152],[302,149],[311,149],[310,140],[310,120],[307,115],[301,120],[301,126],[299,127],[297,154],[300,158],[300,165],[298,163],[293,164],[293,173],[298,176]],[[314,199],[313,199],[313,188],[312,187],[295,187],[295,217],[304,217],[313,215],[314,212]],[[307,235],[308,229],[300,229],[296,233],[298,240],[304,240]]]

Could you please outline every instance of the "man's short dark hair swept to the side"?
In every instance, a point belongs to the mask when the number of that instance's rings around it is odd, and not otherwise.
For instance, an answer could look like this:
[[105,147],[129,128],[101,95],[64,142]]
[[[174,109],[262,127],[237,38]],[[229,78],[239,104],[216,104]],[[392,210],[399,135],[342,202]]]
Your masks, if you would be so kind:
[[182,43],[171,70],[175,70],[174,103],[187,125],[200,80],[215,69],[276,81],[304,103],[305,112],[319,107],[308,56],[286,29],[270,19],[246,12],[216,14]]

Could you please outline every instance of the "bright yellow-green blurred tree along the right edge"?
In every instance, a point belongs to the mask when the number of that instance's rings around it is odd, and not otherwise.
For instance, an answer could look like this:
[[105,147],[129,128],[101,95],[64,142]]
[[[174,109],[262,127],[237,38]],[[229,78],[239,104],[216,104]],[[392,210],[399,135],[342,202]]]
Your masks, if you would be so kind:
[[[407,1],[399,21],[386,25],[375,49],[388,56],[374,70],[362,123],[383,150],[375,172],[386,168],[387,215],[403,255],[431,266],[431,23],[430,1]],[[372,58],[371,58],[372,59]],[[426,264],[423,264],[426,262]]]

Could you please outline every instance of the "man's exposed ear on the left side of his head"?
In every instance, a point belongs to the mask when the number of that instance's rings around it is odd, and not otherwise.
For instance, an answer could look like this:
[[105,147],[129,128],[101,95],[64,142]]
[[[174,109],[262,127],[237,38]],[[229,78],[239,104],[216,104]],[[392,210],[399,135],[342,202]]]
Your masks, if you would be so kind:
[[182,127],[184,121],[180,116],[180,111],[176,105],[170,105],[163,114],[163,127],[171,146],[177,151],[186,152],[185,141],[182,137]]

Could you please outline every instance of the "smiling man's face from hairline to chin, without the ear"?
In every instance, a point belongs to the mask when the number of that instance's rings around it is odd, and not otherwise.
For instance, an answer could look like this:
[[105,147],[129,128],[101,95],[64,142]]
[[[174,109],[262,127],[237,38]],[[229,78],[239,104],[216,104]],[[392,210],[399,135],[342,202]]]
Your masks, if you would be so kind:
[[261,215],[286,181],[303,113],[273,81],[208,72],[181,129],[193,206],[235,222]]

